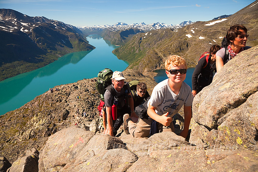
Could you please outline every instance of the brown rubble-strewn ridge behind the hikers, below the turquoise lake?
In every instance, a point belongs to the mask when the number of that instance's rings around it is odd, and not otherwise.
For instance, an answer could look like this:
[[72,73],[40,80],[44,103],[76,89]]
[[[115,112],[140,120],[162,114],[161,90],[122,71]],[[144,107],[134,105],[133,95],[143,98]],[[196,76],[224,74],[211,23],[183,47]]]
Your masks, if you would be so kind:
[[[150,93],[157,84],[152,79],[152,73],[149,74],[151,77],[145,77],[131,69],[123,73],[128,81],[144,81]],[[0,156],[13,163],[24,150],[32,147],[41,150],[51,134],[75,123],[88,130],[99,131],[97,106],[100,95],[95,88],[95,82],[92,82],[94,80],[83,79],[76,83],[55,86],[53,90],[60,90],[53,93],[47,91],[19,109],[1,115],[0,127],[3,132],[0,133]],[[77,100],[78,95],[81,96],[81,101]],[[77,108],[80,116],[75,113]],[[82,117],[84,111],[87,113],[86,118]]]

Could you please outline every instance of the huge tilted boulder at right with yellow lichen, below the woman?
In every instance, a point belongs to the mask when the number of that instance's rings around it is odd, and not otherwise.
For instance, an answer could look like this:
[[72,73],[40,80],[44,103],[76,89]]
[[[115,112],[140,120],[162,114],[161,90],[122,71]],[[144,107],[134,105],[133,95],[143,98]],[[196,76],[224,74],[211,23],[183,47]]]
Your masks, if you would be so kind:
[[195,96],[190,143],[258,150],[257,54],[239,53]]

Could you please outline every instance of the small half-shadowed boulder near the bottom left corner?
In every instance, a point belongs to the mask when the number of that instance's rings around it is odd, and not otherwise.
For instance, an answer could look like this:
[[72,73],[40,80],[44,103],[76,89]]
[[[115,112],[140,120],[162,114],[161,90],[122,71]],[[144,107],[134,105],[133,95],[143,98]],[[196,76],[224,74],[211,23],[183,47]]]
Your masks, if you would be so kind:
[[38,172],[39,171],[39,151],[33,148],[26,150],[20,155],[18,160],[12,163],[7,172]]

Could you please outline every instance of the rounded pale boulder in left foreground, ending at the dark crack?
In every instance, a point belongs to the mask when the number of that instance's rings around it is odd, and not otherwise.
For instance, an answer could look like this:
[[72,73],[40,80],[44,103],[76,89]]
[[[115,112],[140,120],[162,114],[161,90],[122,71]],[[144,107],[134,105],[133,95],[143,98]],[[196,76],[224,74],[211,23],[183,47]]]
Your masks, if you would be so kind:
[[136,160],[117,137],[71,126],[49,137],[39,171],[124,171]]

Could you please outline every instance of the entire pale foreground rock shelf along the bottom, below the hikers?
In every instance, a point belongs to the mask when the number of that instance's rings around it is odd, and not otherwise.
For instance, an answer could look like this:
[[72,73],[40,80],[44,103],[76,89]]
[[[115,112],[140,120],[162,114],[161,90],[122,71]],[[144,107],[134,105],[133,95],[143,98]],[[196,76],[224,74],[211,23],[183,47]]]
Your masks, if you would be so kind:
[[51,135],[39,155],[39,172],[256,171],[258,153],[194,146],[172,132],[119,138],[71,126]]

